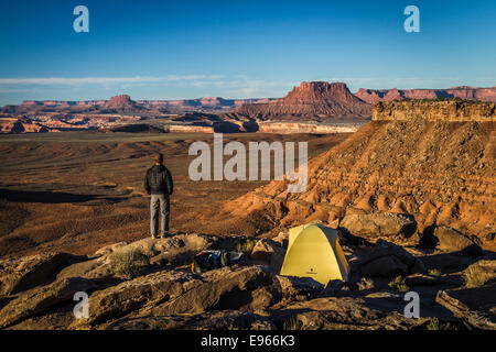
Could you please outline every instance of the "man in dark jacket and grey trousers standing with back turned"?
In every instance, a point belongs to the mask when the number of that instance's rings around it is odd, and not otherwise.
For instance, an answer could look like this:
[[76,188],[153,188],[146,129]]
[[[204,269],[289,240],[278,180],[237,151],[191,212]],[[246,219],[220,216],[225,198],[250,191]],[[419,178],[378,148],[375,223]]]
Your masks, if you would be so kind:
[[174,185],[169,169],[163,166],[163,155],[155,155],[155,165],[147,170],[144,176],[144,189],[151,195],[150,199],[150,232],[152,239],[159,238],[159,217],[160,234],[165,238],[169,234],[170,199]]

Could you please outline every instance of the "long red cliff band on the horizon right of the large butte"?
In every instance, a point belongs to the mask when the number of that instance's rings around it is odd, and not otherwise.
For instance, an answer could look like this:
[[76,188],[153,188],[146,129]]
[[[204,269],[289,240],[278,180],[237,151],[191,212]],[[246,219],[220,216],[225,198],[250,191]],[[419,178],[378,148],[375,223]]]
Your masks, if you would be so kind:
[[453,87],[448,89],[364,89],[360,88],[355,94],[364,101],[373,103],[375,101],[391,101],[402,99],[436,99],[436,98],[461,98],[479,101],[496,102],[496,87],[474,88]]

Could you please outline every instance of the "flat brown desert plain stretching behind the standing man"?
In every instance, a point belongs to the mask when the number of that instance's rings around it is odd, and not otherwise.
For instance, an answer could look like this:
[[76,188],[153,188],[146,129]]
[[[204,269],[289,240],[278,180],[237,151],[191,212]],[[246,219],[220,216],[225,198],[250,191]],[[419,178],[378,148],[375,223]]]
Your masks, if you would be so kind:
[[[308,141],[309,157],[348,134],[225,134],[240,141]],[[227,200],[267,182],[192,182],[187,151],[208,134],[63,132],[0,138],[0,257],[51,250],[93,253],[107,243],[149,235],[143,176],[157,152],[174,179],[171,231],[229,234],[215,226]],[[255,234],[255,233],[254,233]]]

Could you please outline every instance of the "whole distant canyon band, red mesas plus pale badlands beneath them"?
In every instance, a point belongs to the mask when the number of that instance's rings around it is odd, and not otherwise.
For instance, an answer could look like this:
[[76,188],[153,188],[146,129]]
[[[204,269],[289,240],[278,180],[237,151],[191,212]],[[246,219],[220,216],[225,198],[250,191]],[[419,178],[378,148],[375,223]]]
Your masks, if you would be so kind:
[[370,120],[373,103],[408,99],[496,101],[496,87],[364,89],[344,82],[311,81],[283,98],[184,100],[23,101],[0,108],[0,133],[77,130],[163,132],[354,132]]

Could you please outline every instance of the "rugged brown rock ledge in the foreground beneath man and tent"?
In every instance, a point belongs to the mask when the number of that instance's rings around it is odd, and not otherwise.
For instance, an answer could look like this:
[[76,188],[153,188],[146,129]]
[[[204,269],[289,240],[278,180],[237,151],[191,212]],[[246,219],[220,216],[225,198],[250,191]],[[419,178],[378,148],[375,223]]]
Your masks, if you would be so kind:
[[[358,219],[356,229],[339,231],[349,280],[325,287],[279,275],[285,231],[257,241],[176,233],[107,245],[89,256],[46,253],[3,260],[0,328],[496,328],[494,253],[428,251],[382,239],[367,244],[356,240],[364,232],[360,224],[365,232],[373,228]],[[206,249],[242,250],[249,261],[193,274],[193,255]],[[409,290],[419,294],[419,318],[403,315]],[[89,296],[87,318],[74,316],[78,292]]]

